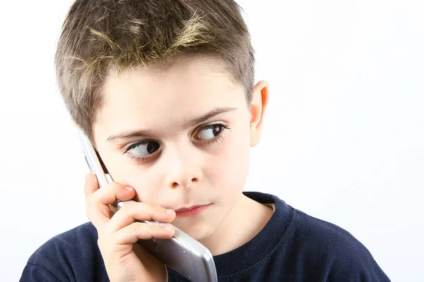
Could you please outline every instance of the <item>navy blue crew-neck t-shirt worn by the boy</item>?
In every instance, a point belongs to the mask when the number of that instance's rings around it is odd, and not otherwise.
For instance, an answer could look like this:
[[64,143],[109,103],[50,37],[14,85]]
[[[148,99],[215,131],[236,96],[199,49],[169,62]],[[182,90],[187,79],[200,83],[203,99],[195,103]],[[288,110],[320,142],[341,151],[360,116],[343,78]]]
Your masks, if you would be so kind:
[[[218,281],[390,281],[351,233],[276,196],[245,195],[275,210],[252,240],[213,257]],[[55,236],[30,257],[20,281],[109,281],[97,240],[91,223]],[[188,281],[168,272],[169,281]]]

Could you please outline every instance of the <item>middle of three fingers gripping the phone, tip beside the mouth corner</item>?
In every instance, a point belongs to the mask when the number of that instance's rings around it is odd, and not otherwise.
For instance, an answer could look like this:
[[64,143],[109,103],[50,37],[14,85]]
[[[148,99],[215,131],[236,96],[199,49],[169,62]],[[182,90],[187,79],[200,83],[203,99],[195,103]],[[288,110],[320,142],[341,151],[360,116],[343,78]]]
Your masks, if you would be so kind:
[[126,202],[119,211],[112,216],[108,229],[110,232],[116,232],[125,226],[129,226],[136,220],[147,221],[156,220],[171,222],[175,219],[175,211],[165,209],[157,204],[148,204],[144,202]]

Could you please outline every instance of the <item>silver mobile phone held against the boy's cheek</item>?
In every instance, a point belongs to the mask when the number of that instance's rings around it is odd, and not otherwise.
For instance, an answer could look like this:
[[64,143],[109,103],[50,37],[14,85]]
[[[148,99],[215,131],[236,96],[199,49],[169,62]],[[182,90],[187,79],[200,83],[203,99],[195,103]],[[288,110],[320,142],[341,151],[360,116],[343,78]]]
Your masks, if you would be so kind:
[[[97,176],[99,186],[102,187],[112,182],[112,176],[110,176],[110,173],[105,173],[103,169],[105,164],[100,163],[100,156],[98,156],[98,152],[96,152],[93,145],[91,145],[88,137],[86,137],[79,128],[77,128],[77,130],[87,164],[90,171]],[[115,202],[112,204],[112,212],[117,212],[125,203],[126,202]],[[142,222],[155,225],[170,224],[160,221]],[[170,239],[139,240],[138,243],[143,245],[143,247],[158,258],[160,262],[170,266],[170,268],[190,281],[218,281],[215,262],[213,262],[211,252],[209,252],[204,245],[201,245],[197,240],[176,227],[175,235]]]

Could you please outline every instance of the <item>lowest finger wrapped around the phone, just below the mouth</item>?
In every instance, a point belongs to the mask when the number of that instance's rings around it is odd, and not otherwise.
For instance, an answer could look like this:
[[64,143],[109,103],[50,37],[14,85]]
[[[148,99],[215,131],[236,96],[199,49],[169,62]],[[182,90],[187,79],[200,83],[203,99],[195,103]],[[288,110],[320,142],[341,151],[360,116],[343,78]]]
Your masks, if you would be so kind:
[[174,235],[175,228],[171,225],[160,226],[148,223],[134,222],[115,233],[117,244],[134,244],[138,240],[152,238],[169,239]]

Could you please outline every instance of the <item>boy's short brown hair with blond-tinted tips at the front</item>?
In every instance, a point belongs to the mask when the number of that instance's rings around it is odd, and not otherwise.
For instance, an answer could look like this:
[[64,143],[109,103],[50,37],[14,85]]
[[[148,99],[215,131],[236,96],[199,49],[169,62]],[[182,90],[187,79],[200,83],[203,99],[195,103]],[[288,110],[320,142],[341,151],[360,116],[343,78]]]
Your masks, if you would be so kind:
[[59,91],[94,145],[92,127],[108,75],[165,68],[182,55],[219,62],[250,104],[254,51],[233,0],[76,0],[57,46]]

